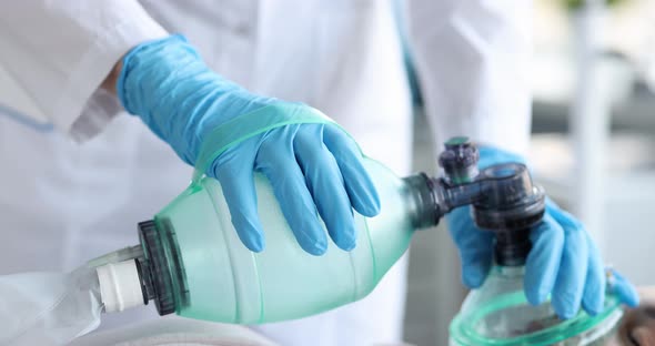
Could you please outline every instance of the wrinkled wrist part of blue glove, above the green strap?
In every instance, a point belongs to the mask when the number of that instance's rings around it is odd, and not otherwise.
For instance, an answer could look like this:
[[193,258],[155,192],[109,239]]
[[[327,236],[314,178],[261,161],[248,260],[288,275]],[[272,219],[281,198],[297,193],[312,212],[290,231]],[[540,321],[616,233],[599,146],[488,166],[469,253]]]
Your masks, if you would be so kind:
[[117,91],[123,108],[141,118],[189,164],[194,164],[199,154],[206,128],[202,122],[209,109],[222,106],[221,111],[211,112],[212,122],[221,123],[238,113],[225,108],[248,109],[256,100],[210,70],[182,35],[132,49],[123,58]]

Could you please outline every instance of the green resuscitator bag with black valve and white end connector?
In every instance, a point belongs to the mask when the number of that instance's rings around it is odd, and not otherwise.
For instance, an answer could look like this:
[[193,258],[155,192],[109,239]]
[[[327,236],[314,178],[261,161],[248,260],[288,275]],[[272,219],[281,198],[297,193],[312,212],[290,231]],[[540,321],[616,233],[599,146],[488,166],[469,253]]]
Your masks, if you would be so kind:
[[[241,324],[300,318],[367,295],[406,251],[414,230],[433,226],[451,210],[468,204],[474,206],[478,226],[496,234],[496,262],[504,267],[521,266],[531,248],[530,226],[544,213],[543,190],[533,185],[523,164],[500,164],[478,172],[478,152],[467,139],[452,139],[445,146],[440,156],[444,176],[440,179],[423,173],[399,179],[366,159],[381,213],[372,218],[355,214],[357,246],[345,252],[330,244],[323,256],[308,254],[294,241],[263,176],[255,176],[259,214],[269,240],[261,253],[250,252],[240,242],[220,184],[209,177],[194,180],[153,221],[139,224],[140,245],[91,261],[89,267],[95,273],[84,276],[91,283],[84,285],[100,295],[78,296],[91,297],[108,313],[152,301],[160,315]],[[99,324],[97,314],[79,313],[90,318],[79,325]],[[8,316],[3,312],[0,319]],[[6,332],[16,330],[2,334]],[[89,328],[71,332],[75,332],[72,338]]]

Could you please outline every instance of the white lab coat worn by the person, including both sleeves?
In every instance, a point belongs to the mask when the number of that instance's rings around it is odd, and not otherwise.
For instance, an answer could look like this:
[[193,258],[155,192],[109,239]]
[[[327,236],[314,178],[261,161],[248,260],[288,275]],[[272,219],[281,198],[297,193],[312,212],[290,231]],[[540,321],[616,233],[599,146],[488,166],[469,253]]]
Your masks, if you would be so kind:
[[[407,8],[437,139],[472,135],[524,152],[528,6],[412,0]],[[191,169],[98,89],[130,48],[168,32],[185,34],[211,68],[250,90],[322,110],[367,155],[409,172],[411,104],[389,1],[3,1],[0,69],[11,83],[3,88],[21,96],[0,101],[56,130],[0,115],[0,273],[71,268],[135,244],[137,222],[184,189]],[[21,99],[30,105],[13,104]],[[405,260],[361,302],[258,329],[282,345],[395,342]]]

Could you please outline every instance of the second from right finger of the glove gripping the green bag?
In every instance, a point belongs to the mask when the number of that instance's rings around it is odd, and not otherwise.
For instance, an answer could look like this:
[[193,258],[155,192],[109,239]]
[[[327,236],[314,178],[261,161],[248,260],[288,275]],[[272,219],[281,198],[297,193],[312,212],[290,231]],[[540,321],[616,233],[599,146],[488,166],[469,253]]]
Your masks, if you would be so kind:
[[332,241],[350,251],[356,243],[353,211],[336,161],[322,140],[322,124],[300,128],[293,141],[295,159]]

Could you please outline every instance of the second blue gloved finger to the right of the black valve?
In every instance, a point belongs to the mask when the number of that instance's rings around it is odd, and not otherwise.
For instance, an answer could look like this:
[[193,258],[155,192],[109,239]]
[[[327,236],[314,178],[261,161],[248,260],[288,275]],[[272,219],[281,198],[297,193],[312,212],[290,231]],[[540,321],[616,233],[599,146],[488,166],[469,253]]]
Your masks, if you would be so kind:
[[564,250],[555,287],[553,307],[562,318],[575,316],[582,303],[588,269],[588,244],[584,226],[568,213],[547,207],[546,212],[564,228]]

